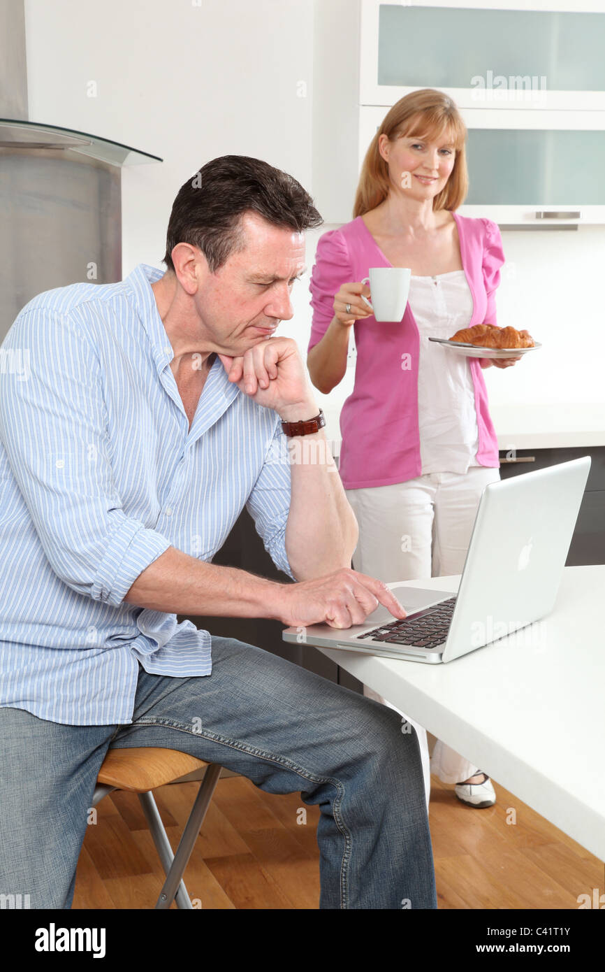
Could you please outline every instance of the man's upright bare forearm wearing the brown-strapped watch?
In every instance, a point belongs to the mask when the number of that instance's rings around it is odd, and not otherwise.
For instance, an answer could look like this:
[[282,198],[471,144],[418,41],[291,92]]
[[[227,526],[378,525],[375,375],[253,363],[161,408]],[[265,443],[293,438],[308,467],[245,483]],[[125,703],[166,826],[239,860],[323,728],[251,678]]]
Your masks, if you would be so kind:
[[[311,402],[306,414],[282,418],[307,419],[318,411]],[[357,522],[324,431],[287,438],[286,448],[291,469],[286,554],[292,573],[297,580],[311,580],[351,567]]]

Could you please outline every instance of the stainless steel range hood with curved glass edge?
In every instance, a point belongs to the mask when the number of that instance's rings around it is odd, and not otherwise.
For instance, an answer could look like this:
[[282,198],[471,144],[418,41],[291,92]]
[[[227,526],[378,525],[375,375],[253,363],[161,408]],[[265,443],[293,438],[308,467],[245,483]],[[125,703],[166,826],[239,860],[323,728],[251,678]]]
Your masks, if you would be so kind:
[[0,0],[0,341],[42,291],[121,279],[120,168],[161,161],[30,121],[23,0]]

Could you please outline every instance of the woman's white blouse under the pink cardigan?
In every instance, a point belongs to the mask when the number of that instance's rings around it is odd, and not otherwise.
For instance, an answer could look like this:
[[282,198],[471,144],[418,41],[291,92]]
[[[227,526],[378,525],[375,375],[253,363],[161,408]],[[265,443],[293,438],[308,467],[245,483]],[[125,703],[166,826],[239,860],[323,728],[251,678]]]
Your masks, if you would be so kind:
[[464,270],[412,277],[409,303],[420,333],[418,406],[422,475],[477,466],[479,433],[469,359],[429,341],[467,328],[473,298]]

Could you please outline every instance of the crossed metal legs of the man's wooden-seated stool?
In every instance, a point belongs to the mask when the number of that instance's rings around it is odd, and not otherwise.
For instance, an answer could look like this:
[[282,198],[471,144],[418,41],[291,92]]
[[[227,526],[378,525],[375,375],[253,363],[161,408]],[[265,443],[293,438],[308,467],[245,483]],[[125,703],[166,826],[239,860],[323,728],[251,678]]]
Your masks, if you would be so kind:
[[185,824],[185,830],[179,842],[179,847],[174,856],[151,792],[139,794],[139,799],[141,800],[145,816],[150,826],[153,842],[157,848],[164,871],[166,872],[166,881],[161,889],[155,908],[170,908],[175,897],[179,908],[192,908],[183,881],[183,873],[188,859],[191,856],[191,851],[193,851],[193,845],[197,840],[204,817],[206,816],[206,811],[212,800],[221,769],[222,767],[218,763],[211,763],[206,770],[204,779],[200,783],[195,803]]

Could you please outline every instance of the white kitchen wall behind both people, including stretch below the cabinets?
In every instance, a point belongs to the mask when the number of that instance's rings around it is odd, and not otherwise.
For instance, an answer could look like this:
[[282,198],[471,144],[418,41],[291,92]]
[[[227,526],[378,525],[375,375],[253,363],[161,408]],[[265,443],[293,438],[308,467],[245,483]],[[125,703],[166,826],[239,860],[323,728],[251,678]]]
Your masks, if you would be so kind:
[[[162,156],[122,173],[124,274],[160,266],[172,201],[205,161],[257,156],[313,191],[313,0],[25,0],[29,117]],[[334,70],[338,70],[335,59]],[[96,97],[87,96],[89,82]],[[318,97],[329,96],[324,90]],[[301,96],[302,95],[302,96]],[[334,164],[338,164],[335,147]],[[313,265],[319,232],[308,234]],[[504,232],[498,323],[544,348],[489,368],[492,404],[602,402],[605,228]],[[282,333],[306,350],[308,281]],[[589,336],[588,336],[589,335]],[[319,403],[335,416],[353,369]]]

